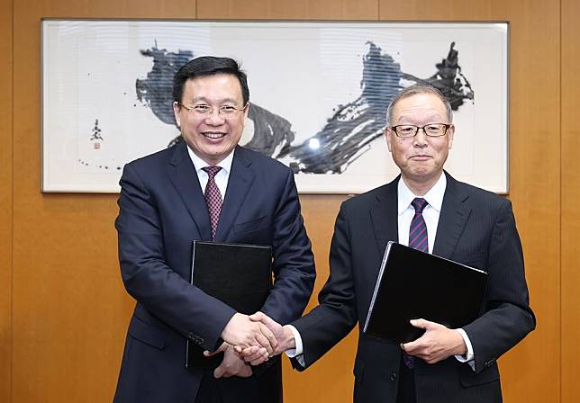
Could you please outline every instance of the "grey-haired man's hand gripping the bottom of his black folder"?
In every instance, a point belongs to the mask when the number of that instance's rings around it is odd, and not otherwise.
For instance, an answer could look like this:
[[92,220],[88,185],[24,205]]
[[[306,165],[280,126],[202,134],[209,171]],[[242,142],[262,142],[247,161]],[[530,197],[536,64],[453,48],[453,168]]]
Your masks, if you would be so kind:
[[467,353],[465,341],[457,330],[425,319],[412,319],[411,324],[425,329],[425,333],[417,340],[401,345],[406,354],[426,363],[439,363],[451,355]]

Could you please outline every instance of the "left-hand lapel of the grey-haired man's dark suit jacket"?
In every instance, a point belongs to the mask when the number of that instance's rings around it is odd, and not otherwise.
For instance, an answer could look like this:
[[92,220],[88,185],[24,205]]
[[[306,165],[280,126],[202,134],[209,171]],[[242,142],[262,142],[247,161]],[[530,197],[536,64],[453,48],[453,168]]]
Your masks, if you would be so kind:
[[388,241],[398,242],[399,227],[397,214],[397,176],[393,182],[386,184],[382,192],[376,195],[376,203],[370,208],[370,218],[375,232],[378,254],[385,254]]

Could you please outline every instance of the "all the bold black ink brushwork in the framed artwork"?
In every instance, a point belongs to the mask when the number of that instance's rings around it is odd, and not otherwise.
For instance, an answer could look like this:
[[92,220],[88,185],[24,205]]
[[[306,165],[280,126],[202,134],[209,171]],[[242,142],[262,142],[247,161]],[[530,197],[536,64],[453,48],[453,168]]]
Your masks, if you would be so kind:
[[[249,119],[254,122],[254,134],[245,147],[269,157],[289,159],[295,173],[340,174],[370,149],[373,140],[383,135],[386,107],[403,89],[403,80],[437,87],[449,99],[454,111],[466,100],[474,102],[474,90],[458,64],[455,42],[450,44],[447,57],[435,65],[437,72],[428,78],[404,73],[394,58],[383,53],[375,43],[368,41],[367,45],[369,49],[362,58],[361,94],[350,103],[338,105],[321,131],[293,146],[292,124],[252,103]],[[153,57],[154,62],[147,79],[136,82],[138,98],[145,100],[161,121],[176,125],[171,107],[171,83],[177,69],[193,56],[192,52],[171,53],[157,49],[157,43],[140,52]],[[169,147],[181,140],[180,136],[173,139]]]

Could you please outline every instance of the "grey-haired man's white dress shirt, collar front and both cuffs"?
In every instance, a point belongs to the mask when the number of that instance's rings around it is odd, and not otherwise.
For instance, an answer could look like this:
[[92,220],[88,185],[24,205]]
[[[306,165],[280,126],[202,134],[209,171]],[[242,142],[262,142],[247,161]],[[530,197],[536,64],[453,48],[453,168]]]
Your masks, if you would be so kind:
[[[429,192],[422,196],[429,204],[423,209],[423,219],[425,219],[425,224],[427,226],[427,241],[429,243],[429,253],[433,253],[433,245],[435,244],[435,236],[437,235],[437,226],[439,224],[439,217],[441,212],[441,205],[443,204],[443,196],[445,195],[445,189],[447,187],[447,178],[445,174],[441,174],[439,180],[433,187],[430,188]],[[407,185],[403,181],[403,177],[399,179],[397,184],[397,200],[398,200],[398,234],[399,243],[405,246],[409,245],[409,228],[411,227],[411,221],[415,215],[415,209],[412,207],[411,201],[420,197],[411,192]],[[292,333],[295,336],[296,348],[293,350],[286,351],[288,357],[296,357],[298,363],[304,366],[304,349],[302,343],[302,337],[298,330],[289,325]],[[475,371],[474,363],[474,351],[467,333],[463,329],[455,329],[463,337],[463,340],[467,346],[466,355],[456,355],[455,357],[461,363],[468,362],[471,368]]]

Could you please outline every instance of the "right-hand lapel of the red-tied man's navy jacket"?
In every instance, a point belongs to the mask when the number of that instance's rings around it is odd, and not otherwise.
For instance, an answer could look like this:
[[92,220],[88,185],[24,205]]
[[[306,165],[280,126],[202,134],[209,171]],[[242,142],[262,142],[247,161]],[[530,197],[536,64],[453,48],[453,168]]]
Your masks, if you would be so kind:
[[245,150],[237,147],[233,154],[233,160],[231,161],[228,188],[225,192],[222,212],[215,233],[215,240],[217,242],[223,242],[227,239],[233,226],[233,221],[238,216],[238,212],[246,199],[249,188],[252,182],[254,182],[255,174],[249,166],[251,166],[251,161]]

